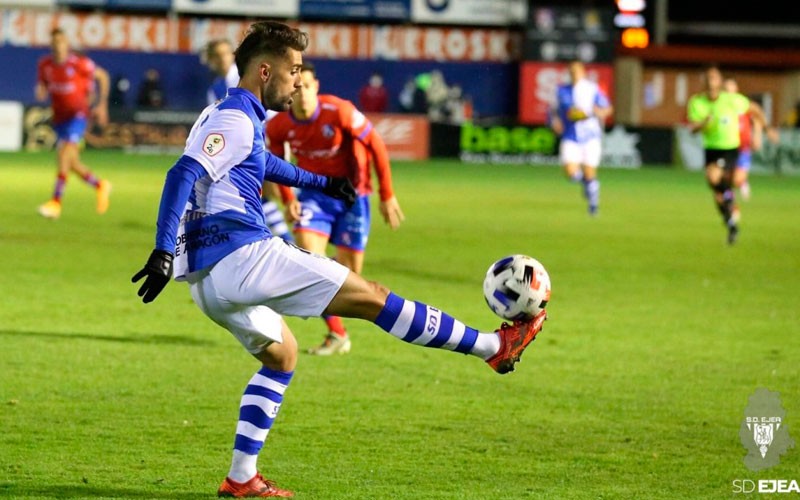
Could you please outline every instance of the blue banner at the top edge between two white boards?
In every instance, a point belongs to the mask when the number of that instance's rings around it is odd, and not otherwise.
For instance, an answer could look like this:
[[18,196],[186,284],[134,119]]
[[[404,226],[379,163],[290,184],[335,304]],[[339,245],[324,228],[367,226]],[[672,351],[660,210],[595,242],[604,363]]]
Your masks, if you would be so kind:
[[411,0],[300,0],[305,19],[408,21]]

